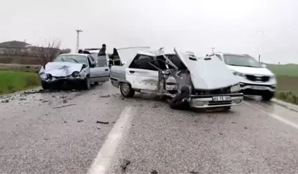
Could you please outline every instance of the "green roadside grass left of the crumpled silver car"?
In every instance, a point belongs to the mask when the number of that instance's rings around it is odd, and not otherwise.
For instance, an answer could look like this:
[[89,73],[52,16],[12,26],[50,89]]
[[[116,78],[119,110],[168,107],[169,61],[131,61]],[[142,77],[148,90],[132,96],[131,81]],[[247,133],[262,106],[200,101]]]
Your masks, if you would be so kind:
[[35,72],[0,70],[0,95],[40,86]]

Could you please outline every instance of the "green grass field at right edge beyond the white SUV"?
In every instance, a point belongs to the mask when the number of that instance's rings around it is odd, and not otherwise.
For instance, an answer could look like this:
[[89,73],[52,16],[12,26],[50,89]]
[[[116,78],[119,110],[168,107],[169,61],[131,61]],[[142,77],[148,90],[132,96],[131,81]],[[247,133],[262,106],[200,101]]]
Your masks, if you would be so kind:
[[270,64],[268,68],[277,76],[275,97],[292,104],[298,104],[298,65]]

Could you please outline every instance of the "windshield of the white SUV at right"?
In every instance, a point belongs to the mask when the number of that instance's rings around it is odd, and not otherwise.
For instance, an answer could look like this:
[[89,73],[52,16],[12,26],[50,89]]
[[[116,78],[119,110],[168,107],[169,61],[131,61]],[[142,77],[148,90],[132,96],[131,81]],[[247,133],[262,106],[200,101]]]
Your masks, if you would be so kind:
[[224,61],[230,66],[247,66],[261,68],[259,61],[249,56],[242,55],[224,55]]

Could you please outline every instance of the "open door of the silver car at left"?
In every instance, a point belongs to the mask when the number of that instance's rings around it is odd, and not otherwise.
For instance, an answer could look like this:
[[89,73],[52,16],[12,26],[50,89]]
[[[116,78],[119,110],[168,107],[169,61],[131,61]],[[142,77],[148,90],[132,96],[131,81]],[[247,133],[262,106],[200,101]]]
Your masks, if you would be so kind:
[[[91,55],[89,58],[94,60]],[[97,57],[97,60],[92,61],[92,64],[96,64],[95,67],[90,68],[90,79],[92,82],[104,82],[110,79],[110,69],[108,68],[106,55]]]

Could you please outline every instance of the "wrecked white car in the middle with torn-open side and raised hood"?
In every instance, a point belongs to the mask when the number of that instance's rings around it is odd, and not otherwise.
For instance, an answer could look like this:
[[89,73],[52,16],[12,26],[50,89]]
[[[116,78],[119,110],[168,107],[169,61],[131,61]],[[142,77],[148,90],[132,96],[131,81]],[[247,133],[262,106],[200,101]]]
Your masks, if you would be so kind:
[[117,49],[122,66],[112,66],[110,80],[123,97],[135,92],[155,93],[168,99],[175,109],[240,105],[239,81],[212,57],[199,58],[192,52],[150,50],[148,47]]

